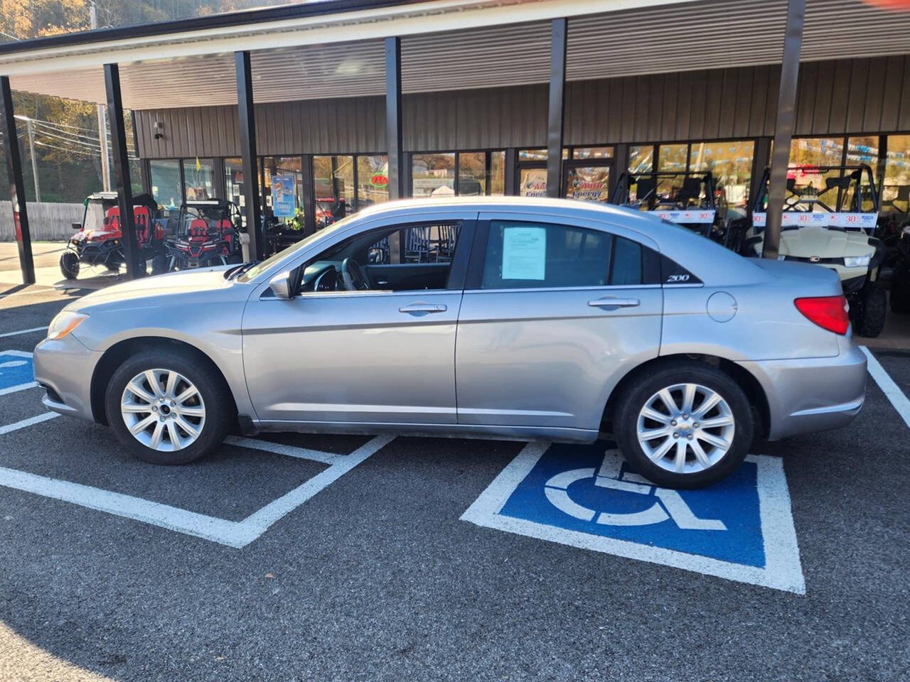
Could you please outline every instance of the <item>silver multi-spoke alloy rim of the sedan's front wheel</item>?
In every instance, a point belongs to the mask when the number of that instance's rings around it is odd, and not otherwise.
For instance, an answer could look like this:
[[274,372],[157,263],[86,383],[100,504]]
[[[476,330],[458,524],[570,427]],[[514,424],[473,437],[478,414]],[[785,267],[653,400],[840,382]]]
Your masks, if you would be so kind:
[[127,382],[120,414],[137,441],[159,452],[191,446],[206,424],[199,390],[171,369],[147,369]]

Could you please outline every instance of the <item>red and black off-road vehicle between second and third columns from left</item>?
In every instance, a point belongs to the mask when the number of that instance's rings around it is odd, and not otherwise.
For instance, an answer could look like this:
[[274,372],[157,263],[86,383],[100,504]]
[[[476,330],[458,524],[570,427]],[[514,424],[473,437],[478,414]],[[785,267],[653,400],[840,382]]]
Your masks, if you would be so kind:
[[237,205],[224,199],[187,201],[180,206],[177,232],[167,239],[167,269],[240,263],[240,228]]

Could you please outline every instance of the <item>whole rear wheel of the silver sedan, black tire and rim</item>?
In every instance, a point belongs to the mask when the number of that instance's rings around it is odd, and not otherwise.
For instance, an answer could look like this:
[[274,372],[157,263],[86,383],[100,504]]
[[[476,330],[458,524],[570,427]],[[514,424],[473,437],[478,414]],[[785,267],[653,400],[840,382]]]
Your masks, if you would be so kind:
[[[683,386],[686,385],[697,387],[692,399],[694,411],[681,409],[685,397]],[[658,396],[663,389],[670,391],[672,401],[678,407],[676,412],[671,412]],[[709,421],[722,422],[723,426],[695,426],[698,424],[696,418],[699,417],[699,406],[704,404],[711,393],[719,396],[720,402],[710,408],[705,417]],[[743,463],[743,458],[752,446],[755,424],[749,400],[743,389],[715,366],[695,361],[654,366],[642,375],[635,376],[632,383],[617,397],[616,405],[618,408],[613,418],[613,432],[626,462],[658,486],[710,486],[730,476]],[[642,410],[648,406],[666,418],[657,421],[642,416]],[[687,418],[683,419],[683,416]],[[642,431],[655,434],[655,438],[645,441],[645,445],[655,455],[653,459],[645,453],[639,440],[640,417]],[[662,431],[665,431],[665,437],[656,436]],[[674,435],[685,437],[685,440]],[[687,435],[693,437],[686,437]],[[704,439],[707,437],[726,440],[728,446],[723,451],[721,447],[708,443]],[[680,443],[685,443],[682,470],[675,466]],[[661,455],[662,446],[668,447],[664,455]],[[702,451],[703,458],[695,455],[695,447]]]

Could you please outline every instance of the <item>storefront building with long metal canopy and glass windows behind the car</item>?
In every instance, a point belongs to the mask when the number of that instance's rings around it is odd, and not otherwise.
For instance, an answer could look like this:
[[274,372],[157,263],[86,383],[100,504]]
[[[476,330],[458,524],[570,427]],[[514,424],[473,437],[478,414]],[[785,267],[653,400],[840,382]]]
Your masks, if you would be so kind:
[[[33,41],[0,49],[0,72],[106,102],[97,65],[122,60],[142,186],[160,206],[227,198],[252,216],[255,201],[301,236],[390,197],[607,202],[626,171],[710,171],[744,209],[776,135],[794,165],[870,165],[882,211],[910,211],[910,14],[862,0],[295,6],[132,42]],[[43,47],[79,55],[66,64],[82,80]]]

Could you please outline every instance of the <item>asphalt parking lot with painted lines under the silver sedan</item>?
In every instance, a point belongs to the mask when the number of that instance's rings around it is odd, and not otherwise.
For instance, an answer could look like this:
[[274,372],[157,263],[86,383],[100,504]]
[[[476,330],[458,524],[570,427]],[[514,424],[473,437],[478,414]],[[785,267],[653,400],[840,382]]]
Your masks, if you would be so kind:
[[22,387],[77,295],[0,290],[2,680],[906,679],[910,351],[873,351],[852,426],[701,493],[607,442],[278,435],[157,467]]

